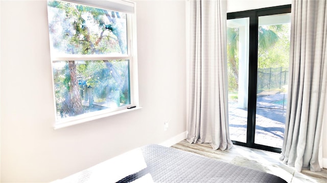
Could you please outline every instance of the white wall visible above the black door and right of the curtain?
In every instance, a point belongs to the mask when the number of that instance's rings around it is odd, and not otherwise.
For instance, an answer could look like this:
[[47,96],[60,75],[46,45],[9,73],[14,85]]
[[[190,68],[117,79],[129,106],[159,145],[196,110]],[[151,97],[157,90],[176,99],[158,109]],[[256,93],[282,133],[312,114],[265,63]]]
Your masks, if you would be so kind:
[[[238,12],[245,10],[253,10],[259,8],[267,8],[273,6],[281,6],[281,5],[290,5],[291,0],[228,0],[227,1],[227,12]],[[327,115],[327,99],[325,105],[325,113]],[[323,158],[323,167],[327,168],[327,116],[325,115],[323,121],[323,129],[322,129],[322,158]],[[319,162],[320,163],[320,162]]]

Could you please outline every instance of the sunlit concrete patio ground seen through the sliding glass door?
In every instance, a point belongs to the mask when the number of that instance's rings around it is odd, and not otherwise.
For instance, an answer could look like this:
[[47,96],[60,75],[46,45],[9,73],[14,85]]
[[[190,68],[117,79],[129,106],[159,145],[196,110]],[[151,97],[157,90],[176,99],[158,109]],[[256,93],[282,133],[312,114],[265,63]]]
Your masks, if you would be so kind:
[[[286,104],[283,107],[283,103],[275,102],[284,100],[286,96],[276,94],[257,98],[254,143],[282,148]],[[229,101],[228,112],[230,139],[246,143],[247,109],[238,108],[237,102]]]

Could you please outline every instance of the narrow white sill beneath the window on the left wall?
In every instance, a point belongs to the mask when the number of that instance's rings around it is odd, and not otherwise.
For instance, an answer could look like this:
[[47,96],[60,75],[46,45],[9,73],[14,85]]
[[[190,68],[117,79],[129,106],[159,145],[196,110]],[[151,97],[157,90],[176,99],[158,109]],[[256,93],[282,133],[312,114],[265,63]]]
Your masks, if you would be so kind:
[[132,108],[132,109],[124,109],[124,110],[120,110],[120,111],[99,114],[96,116],[84,117],[82,119],[73,119],[73,120],[69,120],[66,122],[58,122],[54,125],[54,129],[60,129],[60,128],[68,127],[68,126],[73,126],[76,124],[81,124],[84,122],[88,122],[88,121],[92,121],[92,120],[96,120],[96,119],[100,119],[100,118],[105,118],[105,117],[109,117],[109,116],[114,116],[114,115],[118,115],[118,114],[122,114],[122,113],[127,113],[127,112],[135,111],[138,109],[142,109],[142,107],[136,107],[136,108]]

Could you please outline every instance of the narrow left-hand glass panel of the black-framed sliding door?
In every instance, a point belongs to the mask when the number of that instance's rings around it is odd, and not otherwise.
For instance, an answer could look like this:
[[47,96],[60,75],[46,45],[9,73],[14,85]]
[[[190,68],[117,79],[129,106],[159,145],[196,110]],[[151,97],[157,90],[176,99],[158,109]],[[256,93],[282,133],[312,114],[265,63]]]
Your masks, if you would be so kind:
[[230,139],[246,143],[249,18],[227,20],[228,112]]

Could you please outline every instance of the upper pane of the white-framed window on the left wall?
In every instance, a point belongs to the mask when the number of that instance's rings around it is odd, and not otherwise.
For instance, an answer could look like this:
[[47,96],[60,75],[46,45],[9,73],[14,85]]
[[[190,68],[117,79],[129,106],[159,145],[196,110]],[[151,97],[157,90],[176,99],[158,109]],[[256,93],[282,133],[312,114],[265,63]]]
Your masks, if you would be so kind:
[[126,13],[49,1],[48,18],[53,56],[127,54]]

